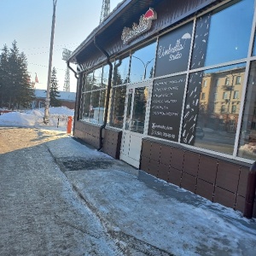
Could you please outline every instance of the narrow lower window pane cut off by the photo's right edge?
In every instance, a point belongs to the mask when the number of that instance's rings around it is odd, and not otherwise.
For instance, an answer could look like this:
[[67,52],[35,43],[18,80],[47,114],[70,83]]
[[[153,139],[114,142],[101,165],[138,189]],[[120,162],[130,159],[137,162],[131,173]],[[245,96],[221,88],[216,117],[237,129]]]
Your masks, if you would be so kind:
[[256,61],[250,67],[247,98],[241,125],[238,155],[255,160],[256,156]]

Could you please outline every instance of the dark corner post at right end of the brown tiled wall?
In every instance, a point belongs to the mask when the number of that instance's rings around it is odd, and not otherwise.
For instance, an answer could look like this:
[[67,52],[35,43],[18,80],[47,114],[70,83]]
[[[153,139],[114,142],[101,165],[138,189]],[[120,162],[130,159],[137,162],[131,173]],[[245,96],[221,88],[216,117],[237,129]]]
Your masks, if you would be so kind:
[[255,189],[256,189],[256,162],[250,168],[250,172],[247,177],[247,194],[245,207],[243,211],[243,217],[253,218],[253,204],[255,199]]

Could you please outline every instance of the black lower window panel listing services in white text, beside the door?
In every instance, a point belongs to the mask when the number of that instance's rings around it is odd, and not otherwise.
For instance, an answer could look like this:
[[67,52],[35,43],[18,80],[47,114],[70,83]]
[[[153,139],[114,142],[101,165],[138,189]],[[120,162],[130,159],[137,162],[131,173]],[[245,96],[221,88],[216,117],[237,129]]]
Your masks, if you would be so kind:
[[154,80],[148,135],[177,142],[185,75]]

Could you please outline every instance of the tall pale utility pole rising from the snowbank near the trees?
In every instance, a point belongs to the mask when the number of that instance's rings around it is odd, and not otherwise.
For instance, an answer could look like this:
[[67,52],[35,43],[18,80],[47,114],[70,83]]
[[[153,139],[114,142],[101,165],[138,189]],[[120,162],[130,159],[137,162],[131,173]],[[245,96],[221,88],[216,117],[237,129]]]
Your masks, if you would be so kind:
[[49,68],[48,68],[48,81],[47,81],[47,91],[46,99],[44,105],[44,124],[49,123],[49,84],[51,77],[51,65],[52,65],[52,50],[55,37],[55,9],[56,9],[57,0],[53,0],[53,15],[52,15],[52,24],[51,24],[51,35],[50,35],[50,45],[49,45]]

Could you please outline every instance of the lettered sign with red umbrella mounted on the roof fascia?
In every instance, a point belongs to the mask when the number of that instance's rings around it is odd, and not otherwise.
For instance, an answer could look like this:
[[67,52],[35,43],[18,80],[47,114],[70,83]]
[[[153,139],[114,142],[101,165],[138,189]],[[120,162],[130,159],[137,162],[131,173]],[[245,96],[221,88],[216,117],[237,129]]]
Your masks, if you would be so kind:
[[142,15],[139,24],[133,23],[132,28],[124,27],[121,39],[124,44],[127,44],[132,39],[137,38],[139,35],[147,32],[152,25],[152,20],[157,19],[157,14],[154,9],[149,8],[145,15]]

